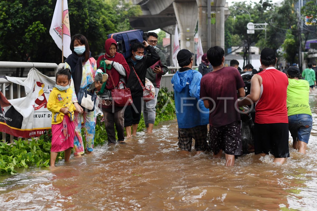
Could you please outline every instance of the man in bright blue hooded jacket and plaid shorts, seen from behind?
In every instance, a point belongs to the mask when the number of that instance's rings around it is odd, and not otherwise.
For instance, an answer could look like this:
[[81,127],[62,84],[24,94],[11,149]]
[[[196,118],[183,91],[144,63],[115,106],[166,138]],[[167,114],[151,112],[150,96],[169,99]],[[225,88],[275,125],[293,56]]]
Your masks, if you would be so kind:
[[175,109],[178,123],[178,147],[190,152],[192,139],[195,139],[195,150],[199,154],[207,150],[207,124],[209,110],[199,100],[201,73],[192,70],[193,59],[187,49],[177,54],[177,71],[171,83],[174,89]]

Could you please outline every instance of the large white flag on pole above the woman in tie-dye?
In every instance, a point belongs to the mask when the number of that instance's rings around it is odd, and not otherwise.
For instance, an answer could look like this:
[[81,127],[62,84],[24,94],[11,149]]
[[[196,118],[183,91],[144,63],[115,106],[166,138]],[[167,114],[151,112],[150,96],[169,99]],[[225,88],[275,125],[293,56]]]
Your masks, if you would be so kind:
[[[68,4],[67,0],[63,0],[63,16],[62,16],[62,8],[61,8],[62,0],[57,0],[53,20],[51,23],[51,27],[49,28],[49,34],[52,36],[55,41],[57,47],[62,50],[64,56],[67,58],[70,54],[72,54],[70,50],[70,29],[69,29],[69,16],[68,16]],[[63,23],[63,42],[61,40],[62,37],[62,23]]]

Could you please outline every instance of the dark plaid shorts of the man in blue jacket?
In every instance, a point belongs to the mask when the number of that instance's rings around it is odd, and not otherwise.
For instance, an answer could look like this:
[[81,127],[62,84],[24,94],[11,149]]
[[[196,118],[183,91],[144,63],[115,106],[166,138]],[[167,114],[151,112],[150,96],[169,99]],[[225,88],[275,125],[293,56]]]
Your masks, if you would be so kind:
[[195,150],[208,150],[207,125],[198,125],[191,128],[178,128],[178,147],[181,150],[191,151],[192,140],[195,139]]

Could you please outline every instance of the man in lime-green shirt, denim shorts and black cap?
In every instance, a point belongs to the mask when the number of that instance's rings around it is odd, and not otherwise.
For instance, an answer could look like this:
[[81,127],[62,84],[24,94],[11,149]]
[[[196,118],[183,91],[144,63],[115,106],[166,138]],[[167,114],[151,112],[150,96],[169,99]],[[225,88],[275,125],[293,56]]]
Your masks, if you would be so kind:
[[313,117],[309,106],[309,83],[301,80],[298,67],[287,70],[287,114],[288,129],[293,138],[293,148],[306,154],[306,148],[313,127]]

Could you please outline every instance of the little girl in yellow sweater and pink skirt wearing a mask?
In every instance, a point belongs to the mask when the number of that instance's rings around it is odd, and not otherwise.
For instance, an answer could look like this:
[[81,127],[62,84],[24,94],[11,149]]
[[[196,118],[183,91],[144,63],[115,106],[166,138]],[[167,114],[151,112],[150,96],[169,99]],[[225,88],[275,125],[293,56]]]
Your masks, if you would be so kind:
[[59,69],[56,73],[56,84],[49,95],[47,108],[52,112],[52,147],[51,166],[55,166],[57,153],[65,151],[65,162],[68,162],[74,147],[74,110],[72,90],[69,88],[70,70]]

